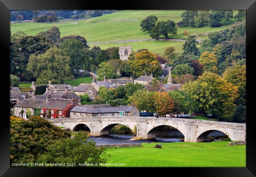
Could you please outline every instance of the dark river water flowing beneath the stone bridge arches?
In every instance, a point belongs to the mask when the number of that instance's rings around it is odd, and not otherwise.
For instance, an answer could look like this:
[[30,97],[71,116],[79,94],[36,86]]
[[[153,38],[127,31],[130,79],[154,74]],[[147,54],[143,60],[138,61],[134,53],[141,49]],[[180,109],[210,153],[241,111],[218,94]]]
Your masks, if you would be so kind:
[[[208,137],[226,137],[226,135],[220,131],[211,132]],[[129,143],[151,143],[151,142],[184,142],[184,136],[180,131],[170,130],[170,131],[160,131],[156,133],[156,138],[149,140],[134,140],[132,139],[134,135],[119,135],[119,134],[109,134],[106,136],[89,136],[89,140],[94,140],[96,145],[103,144],[129,144]],[[206,137],[207,138],[207,137]],[[216,140],[215,139],[215,140]]]

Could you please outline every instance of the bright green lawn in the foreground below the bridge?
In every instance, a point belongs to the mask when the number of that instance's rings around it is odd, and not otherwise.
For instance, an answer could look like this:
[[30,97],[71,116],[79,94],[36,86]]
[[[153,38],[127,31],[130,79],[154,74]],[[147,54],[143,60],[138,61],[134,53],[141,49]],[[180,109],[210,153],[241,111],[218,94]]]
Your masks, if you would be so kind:
[[[161,144],[162,148],[155,148]],[[109,148],[107,163],[126,167],[245,167],[246,146],[228,142],[142,143],[143,147]]]

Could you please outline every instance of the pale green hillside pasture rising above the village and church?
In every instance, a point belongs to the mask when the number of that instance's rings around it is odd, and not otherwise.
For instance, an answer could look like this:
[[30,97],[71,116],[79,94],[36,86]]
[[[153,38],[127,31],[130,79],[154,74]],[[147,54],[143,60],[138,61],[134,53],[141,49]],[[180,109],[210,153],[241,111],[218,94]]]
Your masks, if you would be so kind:
[[[119,11],[103,15],[101,17],[90,18],[81,21],[69,21],[69,22],[54,22],[54,23],[12,23],[11,33],[17,31],[24,31],[27,35],[35,35],[40,31],[46,31],[51,26],[58,26],[62,36],[67,35],[81,35],[85,37],[87,42],[105,42],[105,41],[122,41],[128,39],[150,39],[149,33],[140,30],[141,20],[145,19],[149,15],[155,15],[158,17],[158,21],[161,20],[173,20],[174,22],[181,21],[182,10],[126,10]],[[237,11],[234,11],[236,14]],[[169,38],[186,39],[184,31],[187,30],[189,35],[199,35],[198,39],[206,39],[207,36],[203,33],[209,33],[212,31],[219,31],[228,28],[230,25],[211,28],[204,26],[202,28],[184,27],[177,28],[176,36],[169,36]],[[147,41],[146,41],[147,42]],[[174,45],[172,42],[160,42],[160,41],[148,41],[146,42],[129,42],[127,45],[131,45],[133,50],[145,48],[152,50],[158,54],[162,54],[166,46]],[[170,43],[170,44],[167,44]],[[154,45],[153,45],[154,44]],[[120,46],[118,44],[100,44],[102,48],[108,48],[109,46]],[[123,44],[122,44],[123,45]],[[182,42],[177,42],[177,51],[182,51]]]

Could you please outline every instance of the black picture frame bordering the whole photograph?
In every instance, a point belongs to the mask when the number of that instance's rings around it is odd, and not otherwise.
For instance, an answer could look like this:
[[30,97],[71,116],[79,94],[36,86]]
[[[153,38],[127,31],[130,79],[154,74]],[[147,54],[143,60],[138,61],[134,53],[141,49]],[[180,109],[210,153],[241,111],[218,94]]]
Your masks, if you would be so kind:
[[[10,35],[10,12],[9,10],[43,10],[43,9],[219,9],[219,10],[247,10],[247,146],[246,146],[246,168],[139,168],[144,171],[156,171],[159,175],[169,173],[173,175],[175,172],[182,175],[192,176],[255,176],[256,175],[256,155],[255,155],[255,124],[253,116],[253,98],[255,96],[252,91],[252,82],[255,80],[253,73],[254,53],[256,49],[256,2],[255,0],[136,0],[134,2],[121,1],[82,1],[82,0],[0,0],[0,46],[2,58],[2,78],[6,79],[2,83],[9,81],[9,76],[6,74],[9,70],[9,35]],[[3,64],[4,63],[4,64]],[[2,84],[2,95],[8,98],[7,84]],[[55,172],[58,176],[72,172],[77,175],[89,174],[89,171],[96,174],[98,171],[113,174],[116,168],[18,168],[10,167],[9,165],[9,105],[5,104],[7,100],[2,99],[2,105],[6,109],[2,109],[1,116],[1,133],[0,133],[0,175],[2,176],[52,176]],[[250,104],[249,104],[250,103]],[[119,170],[127,171],[131,175],[137,175],[130,168],[119,168]],[[132,169],[134,170],[134,169]],[[163,172],[164,170],[164,172]],[[104,172],[105,173],[105,172]],[[110,174],[110,173],[109,173]],[[122,173],[121,173],[122,174]],[[121,175],[120,174],[120,175]],[[66,176],[66,175],[65,175]]]

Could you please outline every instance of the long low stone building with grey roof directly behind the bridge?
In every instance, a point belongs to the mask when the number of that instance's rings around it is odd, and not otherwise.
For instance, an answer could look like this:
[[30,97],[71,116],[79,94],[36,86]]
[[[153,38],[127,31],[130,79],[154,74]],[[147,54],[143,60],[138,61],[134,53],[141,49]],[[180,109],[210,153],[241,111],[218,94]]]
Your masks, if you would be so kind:
[[80,105],[70,111],[70,117],[139,116],[134,106]]

